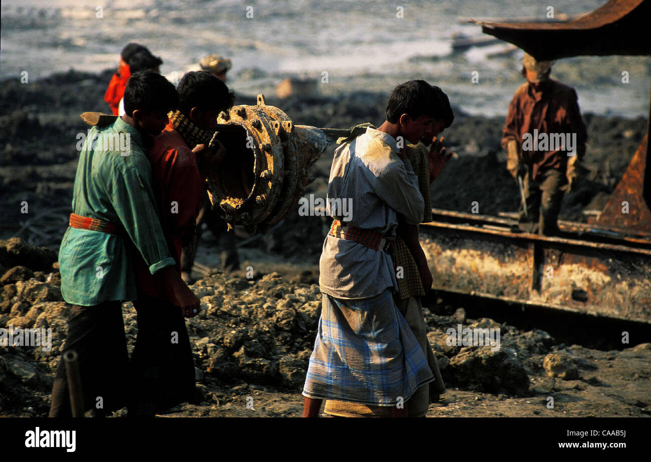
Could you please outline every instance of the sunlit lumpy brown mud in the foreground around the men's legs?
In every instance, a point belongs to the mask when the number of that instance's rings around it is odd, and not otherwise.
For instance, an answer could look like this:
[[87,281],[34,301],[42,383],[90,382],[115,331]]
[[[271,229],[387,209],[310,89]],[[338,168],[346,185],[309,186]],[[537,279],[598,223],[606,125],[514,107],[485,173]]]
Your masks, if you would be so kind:
[[[0,258],[6,261],[15,247],[16,240],[2,241]],[[58,280],[56,271],[16,267],[3,276],[0,323],[50,328],[53,348],[0,347],[1,416],[48,412],[70,309],[61,301]],[[203,308],[187,320],[199,393],[193,403],[159,415],[299,416],[320,313],[318,286],[301,280],[305,269],[294,267],[283,274],[256,271],[252,279],[214,271],[193,284]],[[424,305],[428,338],[448,387],[430,405],[430,417],[651,415],[651,344],[638,342],[648,332],[631,332],[628,345],[618,342],[620,326],[592,323],[592,345],[582,346],[564,343],[568,334],[557,333],[553,322],[547,331],[527,325],[526,314],[512,312],[510,322],[498,322],[493,318],[503,315],[482,306],[466,310],[437,297]],[[475,312],[481,317],[470,315]],[[123,316],[132,351],[137,325],[130,303],[123,305]],[[459,323],[499,327],[501,349],[450,346],[447,329]],[[595,337],[610,341],[598,347]],[[590,344],[590,338],[581,341]],[[126,409],[114,414],[125,415]]]

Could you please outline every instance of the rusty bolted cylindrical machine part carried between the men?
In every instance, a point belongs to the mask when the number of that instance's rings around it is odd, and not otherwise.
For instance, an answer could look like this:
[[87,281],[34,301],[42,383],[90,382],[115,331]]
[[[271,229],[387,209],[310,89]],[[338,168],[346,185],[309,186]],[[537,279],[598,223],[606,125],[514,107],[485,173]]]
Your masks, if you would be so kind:
[[257,104],[222,112],[220,124],[238,127],[219,131],[228,156],[208,176],[214,210],[229,223],[249,232],[266,232],[283,220],[305,193],[308,169],[328,146],[326,134],[294,122],[264,96]]

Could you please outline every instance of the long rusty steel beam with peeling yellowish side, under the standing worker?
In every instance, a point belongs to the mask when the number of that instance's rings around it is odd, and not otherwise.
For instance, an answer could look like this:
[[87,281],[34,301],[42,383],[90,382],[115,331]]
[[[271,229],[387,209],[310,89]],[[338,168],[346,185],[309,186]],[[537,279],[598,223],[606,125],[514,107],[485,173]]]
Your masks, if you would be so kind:
[[540,236],[511,232],[515,218],[432,215],[421,245],[436,290],[651,323],[651,234],[559,221],[561,236]]

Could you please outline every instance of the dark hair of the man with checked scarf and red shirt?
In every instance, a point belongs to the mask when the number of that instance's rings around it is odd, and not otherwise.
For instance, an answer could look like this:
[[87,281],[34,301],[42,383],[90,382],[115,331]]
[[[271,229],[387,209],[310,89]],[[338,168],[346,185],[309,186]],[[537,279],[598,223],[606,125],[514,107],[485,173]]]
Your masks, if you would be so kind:
[[232,90],[208,71],[187,72],[176,90],[178,109],[187,117],[193,107],[227,111],[235,102]]

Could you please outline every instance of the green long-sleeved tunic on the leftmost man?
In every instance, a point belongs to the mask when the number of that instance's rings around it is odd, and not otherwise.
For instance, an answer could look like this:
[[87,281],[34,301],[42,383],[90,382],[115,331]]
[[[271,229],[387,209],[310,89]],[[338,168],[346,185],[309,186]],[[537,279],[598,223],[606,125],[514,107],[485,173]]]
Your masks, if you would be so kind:
[[90,129],[77,165],[72,211],[119,224],[128,237],[68,227],[59,249],[66,302],[91,306],[135,299],[133,245],[152,274],[174,265],[156,213],[151,176],[137,129],[121,118]]

